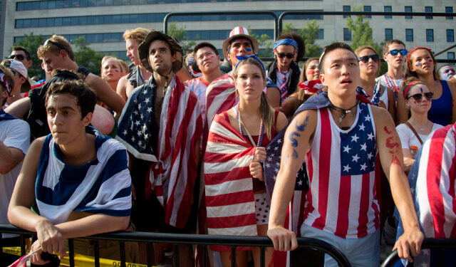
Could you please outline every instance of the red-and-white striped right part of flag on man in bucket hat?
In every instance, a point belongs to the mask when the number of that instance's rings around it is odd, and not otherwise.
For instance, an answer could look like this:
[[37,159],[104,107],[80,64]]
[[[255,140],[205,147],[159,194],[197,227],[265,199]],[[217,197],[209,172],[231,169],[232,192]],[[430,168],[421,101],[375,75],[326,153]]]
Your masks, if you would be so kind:
[[148,180],[165,209],[165,223],[183,229],[193,203],[202,117],[197,95],[176,75],[163,98],[161,114],[157,145],[159,162],[151,165]]

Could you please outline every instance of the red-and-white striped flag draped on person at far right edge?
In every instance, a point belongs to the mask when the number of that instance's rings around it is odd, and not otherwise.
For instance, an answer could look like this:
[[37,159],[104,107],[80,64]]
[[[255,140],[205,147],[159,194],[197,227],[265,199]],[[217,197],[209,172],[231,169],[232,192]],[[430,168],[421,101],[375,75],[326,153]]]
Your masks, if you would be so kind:
[[425,140],[408,176],[418,219],[430,238],[456,238],[456,125]]

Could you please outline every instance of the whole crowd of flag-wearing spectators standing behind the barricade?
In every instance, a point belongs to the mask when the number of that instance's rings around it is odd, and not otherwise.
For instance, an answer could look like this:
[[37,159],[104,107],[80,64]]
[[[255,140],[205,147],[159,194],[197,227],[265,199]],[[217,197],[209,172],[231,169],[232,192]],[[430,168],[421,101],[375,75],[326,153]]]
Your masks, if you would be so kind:
[[[32,263],[110,231],[269,236],[266,266],[285,266],[297,236],[352,266],[379,266],[383,242],[413,261],[425,237],[456,238],[456,76],[430,48],[332,43],[300,67],[304,40],[283,33],[265,66],[242,26],[223,55],[202,42],[184,58],[153,29],[123,37],[130,66],[105,56],[100,76],[57,35],[0,64],[0,222],[36,232]],[[41,83],[28,78],[29,52]],[[128,262],[152,253],[157,265],[169,249],[125,247]],[[180,266],[201,263],[179,247]],[[100,256],[118,249],[106,241]],[[210,249],[211,266],[231,265],[231,248]],[[93,244],[78,239],[75,251],[93,255]],[[249,258],[259,266],[259,248],[237,247],[237,266]]]

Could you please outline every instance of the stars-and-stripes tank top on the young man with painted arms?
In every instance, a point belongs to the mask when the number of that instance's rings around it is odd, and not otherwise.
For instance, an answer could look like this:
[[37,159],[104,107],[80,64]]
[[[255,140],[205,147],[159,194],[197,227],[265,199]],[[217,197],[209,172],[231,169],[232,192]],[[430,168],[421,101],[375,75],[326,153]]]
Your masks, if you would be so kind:
[[380,224],[375,194],[375,125],[371,107],[358,105],[356,120],[341,130],[329,108],[318,110],[306,164],[310,189],[304,224],[346,239],[375,232]]

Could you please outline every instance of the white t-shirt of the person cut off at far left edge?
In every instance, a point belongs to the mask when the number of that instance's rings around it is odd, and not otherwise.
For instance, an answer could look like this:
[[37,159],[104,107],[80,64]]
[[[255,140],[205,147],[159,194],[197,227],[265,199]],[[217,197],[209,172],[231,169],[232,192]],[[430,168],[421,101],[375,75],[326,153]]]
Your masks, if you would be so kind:
[[[6,147],[16,147],[24,154],[30,145],[30,127],[24,120],[0,120],[0,141]],[[0,223],[9,224],[8,212],[9,199],[13,194],[14,184],[16,184],[17,176],[21,171],[22,162],[11,169],[6,174],[0,174]],[[14,235],[6,235],[3,237],[11,237]]]

